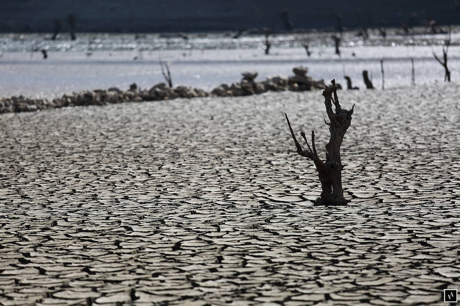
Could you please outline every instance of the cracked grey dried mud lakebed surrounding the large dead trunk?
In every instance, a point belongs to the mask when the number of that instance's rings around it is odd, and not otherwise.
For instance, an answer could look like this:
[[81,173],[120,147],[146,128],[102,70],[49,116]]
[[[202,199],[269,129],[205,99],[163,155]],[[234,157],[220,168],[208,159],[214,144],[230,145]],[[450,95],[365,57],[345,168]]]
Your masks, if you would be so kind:
[[440,304],[459,94],[340,91],[344,207],[313,206],[283,115],[324,156],[320,91],[3,114],[0,304]]

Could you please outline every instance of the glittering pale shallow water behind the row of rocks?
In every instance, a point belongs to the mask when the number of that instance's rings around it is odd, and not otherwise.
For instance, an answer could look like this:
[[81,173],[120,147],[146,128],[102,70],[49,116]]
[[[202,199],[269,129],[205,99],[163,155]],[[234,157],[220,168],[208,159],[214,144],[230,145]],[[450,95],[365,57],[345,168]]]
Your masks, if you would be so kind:
[[[262,35],[233,39],[231,33],[190,34],[162,37],[145,34],[80,34],[75,42],[62,36],[56,41],[49,34],[4,34],[0,41],[0,96],[25,95],[55,97],[65,92],[136,83],[143,88],[164,82],[158,61],[169,63],[174,85],[212,90],[222,83],[238,82],[241,72],[254,70],[257,80],[268,75],[292,75],[298,65],[309,67],[315,79],[337,79],[343,75],[353,85],[364,88],[362,70],[369,70],[376,88],[382,88],[380,60],[384,59],[385,88],[411,84],[411,62],[415,60],[417,85],[444,81],[444,69],[434,60],[433,51],[442,56],[445,34],[403,36],[391,33],[363,41],[356,33],[345,33],[341,55],[334,54],[331,33],[284,34],[270,37],[270,55],[263,50]],[[458,79],[459,34],[452,35],[449,67],[452,80]],[[311,56],[302,42],[308,41]],[[36,49],[37,51],[33,51]],[[44,60],[38,50],[47,49]]]

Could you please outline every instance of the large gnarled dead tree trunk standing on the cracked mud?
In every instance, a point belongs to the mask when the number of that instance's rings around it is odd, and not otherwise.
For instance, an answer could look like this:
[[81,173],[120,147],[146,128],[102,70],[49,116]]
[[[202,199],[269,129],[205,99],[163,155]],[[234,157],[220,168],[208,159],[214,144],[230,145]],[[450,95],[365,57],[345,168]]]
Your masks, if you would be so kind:
[[[329,132],[331,133],[329,142],[326,144],[326,162],[323,162],[316,152],[314,131],[311,131],[311,147],[308,144],[305,132],[303,130],[301,131],[300,134],[308,147],[307,150],[304,150],[295,138],[289,118],[287,114],[284,113],[292,139],[297,148],[297,154],[311,159],[318,171],[319,182],[321,183],[322,189],[320,197],[316,200],[316,203],[319,205],[343,205],[349,201],[343,197],[341,173],[344,166],[340,160],[340,145],[342,144],[343,136],[351,124],[351,116],[355,106],[353,105],[351,110],[342,109],[337,97],[337,85],[335,85],[335,80],[332,80],[331,83],[332,86],[327,87],[325,85],[326,89],[323,91],[324,104],[326,105],[326,111],[331,121],[327,122],[326,119],[324,120],[324,122],[329,125]],[[335,106],[335,112],[332,111],[332,103]]]

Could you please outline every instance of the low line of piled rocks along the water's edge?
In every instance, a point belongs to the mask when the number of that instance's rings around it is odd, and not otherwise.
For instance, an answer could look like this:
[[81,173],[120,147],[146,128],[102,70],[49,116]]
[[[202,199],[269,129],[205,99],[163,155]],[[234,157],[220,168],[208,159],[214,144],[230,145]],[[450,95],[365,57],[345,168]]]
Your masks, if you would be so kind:
[[22,95],[0,99],[0,113],[31,112],[36,110],[61,108],[67,106],[82,105],[107,105],[128,101],[153,101],[168,100],[174,98],[193,98],[206,96],[245,96],[260,94],[267,91],[303,91],[313,88],[323,89],[324,81],[315,81],[307,77],[306,67],[292,69],[293,77],[268,77],[263,82],[256,82],[257,72],[243,72],[243,79],[232,85],[222,84],[211,92],[189,86],[167,87],[165,83],[154,85],[149,90],[137,88],[131,84],[129,89],[123,91],[117,87],[107,90],[96,89],[81,92],[66,93],[60,98],[26,98]]

